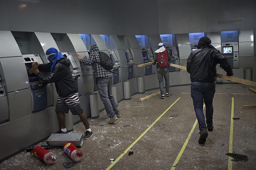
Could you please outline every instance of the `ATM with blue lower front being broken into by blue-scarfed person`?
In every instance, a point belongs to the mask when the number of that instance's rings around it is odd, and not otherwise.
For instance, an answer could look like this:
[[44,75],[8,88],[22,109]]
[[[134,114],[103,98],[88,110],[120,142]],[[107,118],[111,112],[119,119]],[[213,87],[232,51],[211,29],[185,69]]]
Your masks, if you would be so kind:
[[30,74],[29,69],[33,62],[43,64],[41,57],[38,54],[23,55],[26,70],[28,72],[29,85],[32,97],[32,112],[47,108],[47,83],[40,80],[34,73]]

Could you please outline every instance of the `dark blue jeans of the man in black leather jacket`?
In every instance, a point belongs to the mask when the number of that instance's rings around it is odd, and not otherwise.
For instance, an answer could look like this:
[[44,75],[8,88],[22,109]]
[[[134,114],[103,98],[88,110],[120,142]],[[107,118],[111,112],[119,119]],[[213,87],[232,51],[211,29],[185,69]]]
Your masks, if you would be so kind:
[[[212,125],[213,106],[212,100],[215,94],[215,83],[199,83],[198,81],[191,82],[191,97],[193,99],[194,111],[198,120],[199,130],[206,128],[207,125]],[[205,104],[206,124],[203,112]]]

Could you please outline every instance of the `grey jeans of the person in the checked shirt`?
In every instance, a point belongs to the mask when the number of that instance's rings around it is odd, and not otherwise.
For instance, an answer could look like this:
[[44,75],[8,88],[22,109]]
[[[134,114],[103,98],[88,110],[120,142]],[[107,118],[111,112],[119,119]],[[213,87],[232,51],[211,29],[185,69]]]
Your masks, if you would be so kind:
[[100,77],[97,83],[100,99],[104,104],[107,115],[109,118],[113,118],[116,114],[119,113],[119,110],[117,108],[115,98],[112,95],[112,77]]

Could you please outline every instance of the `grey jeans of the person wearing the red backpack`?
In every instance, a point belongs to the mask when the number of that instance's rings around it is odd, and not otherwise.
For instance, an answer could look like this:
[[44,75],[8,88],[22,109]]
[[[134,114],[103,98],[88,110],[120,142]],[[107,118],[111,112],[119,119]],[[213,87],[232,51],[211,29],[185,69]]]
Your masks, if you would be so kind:
[[157,67],[157,78],[159,81],[159,88],[160,88],[160,92],[161,95],[164,95],[164,85],[163,85],[163,77],[165,79],[165,92],[169,93],[169,86],[170,86],[170,82],[169,82],[169,68],[168,67]]

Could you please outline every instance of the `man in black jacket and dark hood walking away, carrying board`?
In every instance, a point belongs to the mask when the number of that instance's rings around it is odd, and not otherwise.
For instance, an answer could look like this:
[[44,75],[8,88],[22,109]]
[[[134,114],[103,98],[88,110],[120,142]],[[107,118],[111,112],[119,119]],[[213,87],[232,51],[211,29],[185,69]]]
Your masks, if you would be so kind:
[[[191,97],[194,111],[198,120],[200,137],[198,143],[206,142],[208,131],[213,130],[213,106],[212,100],[215,94],[216,65],[227,72],[227,76],[233,76],[233,71],[228,60],[211,45],[208,37],[201,37],[198,41],[198,49],[192,51],[187,60],[187,71],[190,73]],[[206,106],[206,123],[203,113],[203,104]]]

